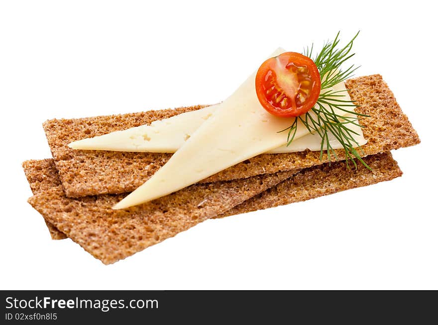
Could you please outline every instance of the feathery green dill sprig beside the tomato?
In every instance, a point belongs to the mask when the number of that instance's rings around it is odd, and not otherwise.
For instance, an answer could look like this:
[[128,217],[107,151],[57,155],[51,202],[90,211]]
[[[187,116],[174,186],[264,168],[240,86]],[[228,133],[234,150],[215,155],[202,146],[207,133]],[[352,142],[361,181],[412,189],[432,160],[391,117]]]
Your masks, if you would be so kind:
[[[323,153],[324,151],[327,151],[329,162],[331,161],[332,156],[336,161],[338,160],[336,152],[333,150],[329,142],[330,132],[342,145],[345,151],[345,161],[348,167],[348,162],[351,161],[355,168],[357,168],[357,164],[354,160],[354,158],[356,158],[360,163],[371,170],[371,168],[362,160],[359,153],[354,149],[355,147],[359,147],[359,144],[354,139],[353,134],[358,134],[348,128],[348,124],[354,124],[363,127],[356,123],[356,118],[357,116],[368,115],[356,113],[354,108],[351,107],[357,107],[358,105],[356,105],[353,101],[342,100],[339,98],[343,97],[341,92],[344,92],[345,90],[334,91],[333,89],[330,89],[335,84],[350,78],[354,71],[359,68],[351,65],[346,70],[341,70],[341,65],[354,55],[354,53],[351,53],[351,49],[353,46],[353,41],[358,34],[359,32],[357,32],[357,34],[354,35],[354,37],[343,48],[337,48],[339,44],[339,32],[337,33],[334,41],[328,41],[324,44],[322,50],[317,53],[313,59],[321,76],[321,93],[318,101],[309,112],[296,117],[289,128],[286,128],[280,132],[289,130],[287,138],[287,145],[289,146],[294,140],[297,132],[298,121],[300,120],[309,132],[316,132],[320,135],[322,139],[320,159],[323,159]],[[307,47],[304,50],[304,55],[311,58],[312,52],[313,44],[310,49]],[[341,116],[336,114],[335,110],[348,112],[354,114],[355,116]],[[311,112],[314,114],[310,114]]]

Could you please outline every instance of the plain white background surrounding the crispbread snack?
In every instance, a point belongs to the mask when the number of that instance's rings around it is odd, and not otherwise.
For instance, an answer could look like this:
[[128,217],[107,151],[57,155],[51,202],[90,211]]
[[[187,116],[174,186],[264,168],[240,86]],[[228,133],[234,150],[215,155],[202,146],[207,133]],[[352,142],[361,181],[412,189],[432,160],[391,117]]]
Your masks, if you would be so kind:
[[[245,2],[0,2],[0,289],[438,289],[432,1]],[[216,103],[278,46],[359,29],[356,75],[381,74],[422,139],[394,152],[403,177],[207,221],[109,266],[51,241],[26,203],[21,162],[51,157],[44,120]]]

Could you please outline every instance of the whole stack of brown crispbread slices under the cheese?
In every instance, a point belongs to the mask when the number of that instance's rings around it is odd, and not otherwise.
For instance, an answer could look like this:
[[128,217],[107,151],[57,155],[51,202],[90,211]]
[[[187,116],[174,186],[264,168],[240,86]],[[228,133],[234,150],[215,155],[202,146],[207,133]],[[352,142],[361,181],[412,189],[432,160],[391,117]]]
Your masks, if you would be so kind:
[[[360,153],[372,171],[359,164],[320,160],[319,152],[264,154],[160,199],[125,210],[111,206],[150,177],[170,154],[73,151],[75,140],[149,124],[193,106],[44,123],[53,160],[27,161],[23,167],[53,239],[70,237],[104,263],[113,263],[157,244],[209,218],[307,200],[401,175],[389,153],[420,142],[381,76],[346,82],[365,126],[368,143]],[[337,151],[342,159],[342,151]]]

